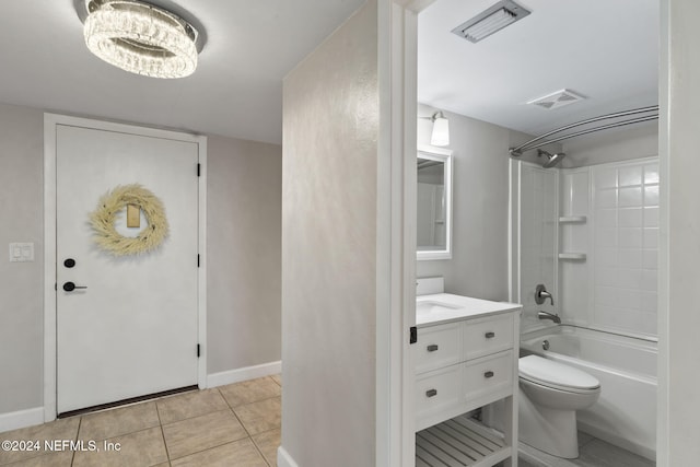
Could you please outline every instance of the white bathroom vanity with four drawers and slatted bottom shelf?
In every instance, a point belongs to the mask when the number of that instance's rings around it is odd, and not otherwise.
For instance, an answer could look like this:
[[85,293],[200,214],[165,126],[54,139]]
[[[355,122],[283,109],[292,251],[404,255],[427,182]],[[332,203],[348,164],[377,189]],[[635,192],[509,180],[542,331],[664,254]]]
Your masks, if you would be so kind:
[[[517,464],[521,310],[447,293],[418,296],[417,467]],[[505,402],[503,434],[465,415],[500,399]]]

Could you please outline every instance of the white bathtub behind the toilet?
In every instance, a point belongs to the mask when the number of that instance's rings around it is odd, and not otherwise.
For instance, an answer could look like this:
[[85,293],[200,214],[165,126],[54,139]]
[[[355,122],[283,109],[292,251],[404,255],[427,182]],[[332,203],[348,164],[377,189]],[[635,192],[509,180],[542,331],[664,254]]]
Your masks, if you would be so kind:
[[524,334],[521,349],[598,378],[600,397],[578,413],[579,429],[655,459],[656,342],[562,325]]

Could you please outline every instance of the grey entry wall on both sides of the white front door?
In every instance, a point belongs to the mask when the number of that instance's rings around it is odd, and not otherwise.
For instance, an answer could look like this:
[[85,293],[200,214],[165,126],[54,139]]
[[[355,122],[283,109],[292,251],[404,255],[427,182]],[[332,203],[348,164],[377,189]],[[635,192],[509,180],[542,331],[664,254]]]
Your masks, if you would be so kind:
[[[0,104],[0,255],[35,243],[0,256],[2,417],[43,406],[43,110]],[[212,137],[208,163],[209,373],[279,361],[281,147]]]

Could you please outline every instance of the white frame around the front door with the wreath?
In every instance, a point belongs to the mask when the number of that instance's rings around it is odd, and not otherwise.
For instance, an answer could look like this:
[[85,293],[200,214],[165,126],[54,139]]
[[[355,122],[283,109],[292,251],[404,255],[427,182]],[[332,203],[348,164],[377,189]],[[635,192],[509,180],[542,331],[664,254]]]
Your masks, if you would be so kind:
[[[201,167],[198,187],[197,337],[201,345],[197,361],[197,382],[207,387],[207,137],[171,130],[139,127],[59,114],[44,114],[44,421],[57,416],[56,339],[56,130],[58,125],[163,138],[198,145]],[[194,170],[194,168],[192,168]]]

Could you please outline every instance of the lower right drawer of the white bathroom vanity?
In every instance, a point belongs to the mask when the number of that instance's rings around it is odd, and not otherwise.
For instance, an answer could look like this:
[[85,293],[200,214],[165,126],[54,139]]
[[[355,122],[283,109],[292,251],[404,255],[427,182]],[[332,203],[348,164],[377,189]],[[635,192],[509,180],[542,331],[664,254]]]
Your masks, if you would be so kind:
[[465,363],[464,392],[472,400],[499,390],[513,388],[513,351],[483,357]]

